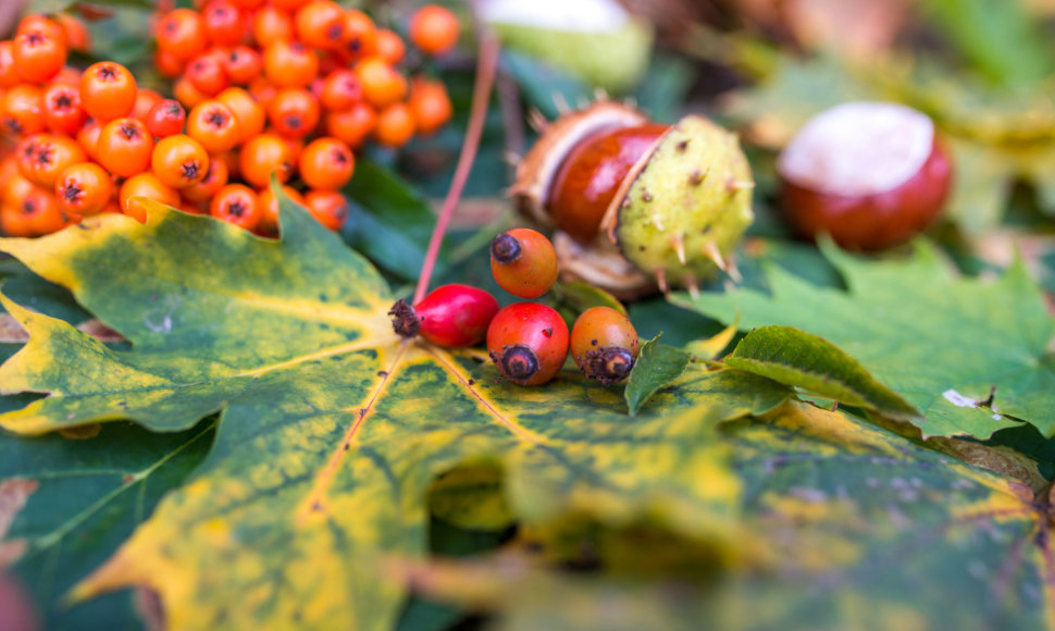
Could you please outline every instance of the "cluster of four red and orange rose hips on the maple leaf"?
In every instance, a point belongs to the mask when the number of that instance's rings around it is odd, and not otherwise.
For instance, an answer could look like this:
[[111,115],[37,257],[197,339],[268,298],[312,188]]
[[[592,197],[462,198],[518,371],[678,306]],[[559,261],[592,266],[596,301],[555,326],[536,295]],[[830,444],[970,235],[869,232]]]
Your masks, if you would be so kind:
[[[491,271],[498,286],[513,296],[538,298],[557,281],[557,252],[542,233],[513,228],[491,243]],[[486,339],[502,379],[519,385],[553,380],[569,351],[584,375],[616,385],[630,375],[640,351],[634,325],[611,307],[586,309],[569,334],[551,307],[524,301],[499,309],[494,296],[471,285],[444,285],[413,307],[399,300],[389,316],[397,334],[420,335],[437,346],[472,346]]]

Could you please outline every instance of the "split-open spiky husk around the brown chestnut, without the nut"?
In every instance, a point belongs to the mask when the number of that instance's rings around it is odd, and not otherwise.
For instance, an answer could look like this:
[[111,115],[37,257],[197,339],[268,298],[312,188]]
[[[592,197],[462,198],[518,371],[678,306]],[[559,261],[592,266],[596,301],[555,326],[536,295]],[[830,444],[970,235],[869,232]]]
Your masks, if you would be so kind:
[[[646,123],[636,110],[610,101],[561,117],[524,157],[510,193],[525,214],[551,225],[555,180],[575,147],[598,134]],[[693,288],[730,264],[754,219],[753,187],[736,137],[707,119],[686,116],[623,178],[593,242],[555,233],[561,274],[626,299],[657,287]]]

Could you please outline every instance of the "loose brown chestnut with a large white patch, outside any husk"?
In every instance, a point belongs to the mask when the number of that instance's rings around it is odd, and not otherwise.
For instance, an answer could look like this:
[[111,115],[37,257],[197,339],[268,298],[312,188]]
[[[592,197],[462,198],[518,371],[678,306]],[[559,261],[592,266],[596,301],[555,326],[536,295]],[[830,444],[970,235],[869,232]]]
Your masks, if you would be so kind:
[[[952,184],[952,161],[933,124],[919,112],[890,103],[840,108],[842,112],[826,120],[834,112],[829,110],[799,134],[811,137],[792,141],[811,147],[795,153],[789,145],[778,161],[789,222],[805,237],[828,234],[847,249],[881,250],[911,239],[941,213]],[[886,122],[877,129],[869,116]],[[834,119],[841,120],[831,124],[841,127],[818,129]]]

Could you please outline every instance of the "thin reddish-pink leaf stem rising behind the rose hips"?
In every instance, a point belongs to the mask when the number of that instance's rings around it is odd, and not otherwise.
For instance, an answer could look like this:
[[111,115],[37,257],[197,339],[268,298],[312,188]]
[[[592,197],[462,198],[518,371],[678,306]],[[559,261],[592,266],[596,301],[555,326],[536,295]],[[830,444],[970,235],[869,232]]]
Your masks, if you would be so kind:
[[469,180],[469,172],[476,159],[476,149],[480,147],[480,138],[484,131],[484,120],[487,117],[487,106],[491,102],[491,88],[495,83],[495,72],[498,67],[498,40],[482,29],[480,35],[480,53],[476,59],[476,83],[473,86],[472,108],[469,111],[469,128],[466,131],[466,141],[461,146],[461,153],[458,156],[458,166],[455,169],[455,176],[450,181],[450,189],[439,210],[436,219],[436,227],[432,231],[429,239],[429,249],[425,250],[425,260],[421,265],[421,275],[418,277],[418,288],[414,290],[413,305],[417,305],[425,297],[429,289],[429,281],[436,267],[436,257],[439,256],[439,245],[444,240],[447,225],[450,218],[455,214],[455,207],[461,199],[461,193]]

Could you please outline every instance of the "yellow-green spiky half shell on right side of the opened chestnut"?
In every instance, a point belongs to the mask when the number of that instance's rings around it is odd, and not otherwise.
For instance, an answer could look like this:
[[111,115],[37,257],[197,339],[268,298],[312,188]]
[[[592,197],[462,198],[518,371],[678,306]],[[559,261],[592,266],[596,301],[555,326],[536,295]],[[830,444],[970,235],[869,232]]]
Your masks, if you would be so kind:
[[615,209],[612,235],[623,256],[660,284],[693,286],[712,276],[715,253],[730,261],[754,220],[754,181],[736,136],[686,116],[641,164]]

